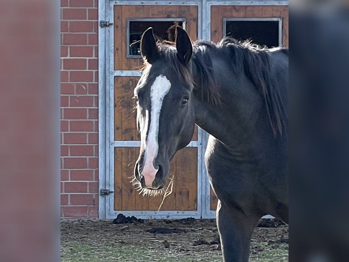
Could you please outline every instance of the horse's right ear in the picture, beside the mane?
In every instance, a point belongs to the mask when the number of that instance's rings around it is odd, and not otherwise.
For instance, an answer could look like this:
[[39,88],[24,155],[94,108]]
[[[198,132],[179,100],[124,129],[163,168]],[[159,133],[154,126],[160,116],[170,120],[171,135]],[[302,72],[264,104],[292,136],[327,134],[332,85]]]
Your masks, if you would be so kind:
[[176,27],[176,49],[179,61],[186,65],[192,58],[193,45],[187,32],[180,26]]

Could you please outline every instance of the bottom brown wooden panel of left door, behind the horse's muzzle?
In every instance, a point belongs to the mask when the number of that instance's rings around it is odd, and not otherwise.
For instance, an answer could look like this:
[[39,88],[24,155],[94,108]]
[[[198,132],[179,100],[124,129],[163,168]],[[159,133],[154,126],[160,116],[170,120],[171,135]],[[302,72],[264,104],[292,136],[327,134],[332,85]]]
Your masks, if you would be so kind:
[[[157,211],[163,196],[142,196],[132,185],[133,169],[139,147],[114,148],[114,210]],[[173,176],[172,194],[165,198],[161,210],[197,210],[197,147],[185,147],[171,161],[165,189]]]

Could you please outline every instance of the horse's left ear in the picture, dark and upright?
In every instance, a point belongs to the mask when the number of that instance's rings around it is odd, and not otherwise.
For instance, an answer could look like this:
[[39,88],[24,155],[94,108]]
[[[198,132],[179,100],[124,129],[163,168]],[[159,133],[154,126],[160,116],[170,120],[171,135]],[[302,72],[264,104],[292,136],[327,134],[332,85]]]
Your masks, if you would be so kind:
[[153,28],[151,27],[149,27],[142,35],[141,54],[143,58],[147,59],[149,64],[153,63],[158,57],[159,51],[156,47]]

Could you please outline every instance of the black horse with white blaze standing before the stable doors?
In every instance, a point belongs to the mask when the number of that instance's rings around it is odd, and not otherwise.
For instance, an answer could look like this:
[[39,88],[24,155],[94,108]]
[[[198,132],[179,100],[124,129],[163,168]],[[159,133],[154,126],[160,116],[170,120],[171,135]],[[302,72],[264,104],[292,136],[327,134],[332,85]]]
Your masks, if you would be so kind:
[[136,181],[163,188],[170,160],[199,125],[210,134],[205,162],[224,261],[248,261],[262,216],[288,223],[288,49],[231,38],[192,44],[177,27],[176,43],[156,41],[149,28],[141,53]]

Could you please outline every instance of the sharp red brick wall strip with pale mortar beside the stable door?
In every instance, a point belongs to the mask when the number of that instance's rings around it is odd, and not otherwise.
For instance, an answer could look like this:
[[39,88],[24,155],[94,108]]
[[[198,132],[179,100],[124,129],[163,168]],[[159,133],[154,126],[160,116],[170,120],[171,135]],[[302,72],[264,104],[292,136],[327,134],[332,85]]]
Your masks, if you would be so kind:
[[61,217],[98,217],[98,2],[61,0]]

